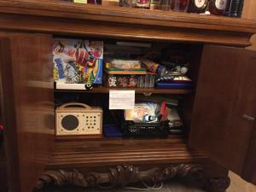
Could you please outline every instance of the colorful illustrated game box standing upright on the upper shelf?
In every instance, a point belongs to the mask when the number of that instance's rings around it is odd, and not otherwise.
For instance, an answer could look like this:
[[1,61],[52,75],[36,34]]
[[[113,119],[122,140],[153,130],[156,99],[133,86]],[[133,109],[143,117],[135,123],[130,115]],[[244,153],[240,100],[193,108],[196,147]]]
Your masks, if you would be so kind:
[[103,42],[55,38],[54,78],[68,84],[102,84]]

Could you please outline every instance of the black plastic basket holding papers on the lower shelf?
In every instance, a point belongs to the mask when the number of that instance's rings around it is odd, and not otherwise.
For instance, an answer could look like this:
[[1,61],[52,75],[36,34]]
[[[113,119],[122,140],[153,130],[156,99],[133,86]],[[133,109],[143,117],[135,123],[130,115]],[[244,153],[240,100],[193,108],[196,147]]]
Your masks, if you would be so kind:
[[168,123],[169,121],[145,124],[126,120],[122,125],[123,137],[165,138],[169,133]]

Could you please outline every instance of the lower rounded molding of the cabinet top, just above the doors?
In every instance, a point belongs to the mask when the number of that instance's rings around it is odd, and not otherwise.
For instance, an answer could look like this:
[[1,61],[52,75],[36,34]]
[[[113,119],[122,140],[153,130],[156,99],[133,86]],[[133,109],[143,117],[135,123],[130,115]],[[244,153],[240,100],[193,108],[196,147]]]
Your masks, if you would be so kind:
[[222,32],[194,28],[188,30],[188,28],[171,26],[152,26],[148,30],[148,26],[143,24],[121,24],[94,20],[86,20],[84,22],[84,20],[63,18],[51,18],[49,20],[49,17],[44,16],[15,14],[0,14],[0,28],[19,32],[49,32],[94,38],[206,42],[211,44],[233,44],[235,46],[250,45],[249,40],[252,35],[251,33],[245,32]]

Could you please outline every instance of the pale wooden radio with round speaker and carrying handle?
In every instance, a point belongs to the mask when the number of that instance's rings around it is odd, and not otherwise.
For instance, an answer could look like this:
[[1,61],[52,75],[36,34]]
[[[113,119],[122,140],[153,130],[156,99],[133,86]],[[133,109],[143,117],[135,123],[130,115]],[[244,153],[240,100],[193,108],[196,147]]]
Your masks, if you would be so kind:
[[55,135],[101,135],[102,108],[70,102],[55,110]]

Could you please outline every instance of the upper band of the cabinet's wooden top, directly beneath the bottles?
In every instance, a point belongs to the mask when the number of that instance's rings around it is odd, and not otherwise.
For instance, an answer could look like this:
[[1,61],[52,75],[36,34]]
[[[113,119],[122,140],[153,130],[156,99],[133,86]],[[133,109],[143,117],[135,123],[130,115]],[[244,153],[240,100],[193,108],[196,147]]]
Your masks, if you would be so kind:
[[255,32],[253,20],[233,19],[214,15],[193,15],[172,11],[127,9],[65,1],[0,0],[2,13],[45,15],[76,20],[100,20],[119,23],[185,28],[212,29],[214,31]]

